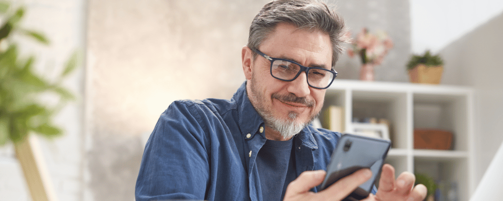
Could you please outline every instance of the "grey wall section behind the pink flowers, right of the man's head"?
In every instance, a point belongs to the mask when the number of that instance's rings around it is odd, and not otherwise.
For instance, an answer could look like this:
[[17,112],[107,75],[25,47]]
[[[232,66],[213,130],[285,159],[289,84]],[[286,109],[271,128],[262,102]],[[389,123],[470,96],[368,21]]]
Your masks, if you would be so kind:
[[[371,33],[385,31],[394,46],[381,65],[375,66],[376,81],[408,82],[405,65],[410,55],[410,11],[409,1],[397,0],[354,0],[329,1],[338,7],[352,36],[366,27]],[[347,46],[349,47],[349,45]],[[361,61],[347,54],[341,56],[336,66],[338,79],[358,79]]]

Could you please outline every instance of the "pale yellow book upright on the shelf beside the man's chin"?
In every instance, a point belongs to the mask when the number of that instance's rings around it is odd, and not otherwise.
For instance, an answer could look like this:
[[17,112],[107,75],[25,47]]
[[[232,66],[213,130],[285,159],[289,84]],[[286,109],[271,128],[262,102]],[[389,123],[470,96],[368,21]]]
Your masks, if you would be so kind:
[[322,113],[322,126],[325,129],[344,132],[344,108],[339,106],[328,106]]

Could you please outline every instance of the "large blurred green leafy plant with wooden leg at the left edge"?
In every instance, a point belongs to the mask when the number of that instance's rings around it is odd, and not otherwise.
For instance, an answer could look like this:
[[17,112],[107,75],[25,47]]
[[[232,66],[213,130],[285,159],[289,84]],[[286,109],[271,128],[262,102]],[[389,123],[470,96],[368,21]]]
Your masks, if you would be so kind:
[[[40,153],[30,140],[35,133],[46,137],[62,134],[62,129],[53,123],[52,118],[74,95],[62,86],[62,81],[77,66],[78,54],[75,52],[65,68],[55,78],[48,81],[34,70],[33,56],[25,58],[19,53],[19,46],[13,37],[24,35],[36,42],[47,45],[49,41],[43,34],[26,30],[20,25],[24,8],[12,9],[10,3],[0,1],[0,146],[12,142],[15,153],[23,169],[25,179],[33,200],[52,200],[47,175],[44,172]],[[52,106],[41,103],[41,96],[56,99]]]

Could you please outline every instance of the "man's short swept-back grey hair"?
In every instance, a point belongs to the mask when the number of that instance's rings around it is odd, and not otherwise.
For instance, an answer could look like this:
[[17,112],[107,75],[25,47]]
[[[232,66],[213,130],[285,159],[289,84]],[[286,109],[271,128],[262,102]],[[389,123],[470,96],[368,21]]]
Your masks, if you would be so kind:
[[[251,22],[247,46],[259,49],[280,23],[327,34],[332,46],[332,67],[344,50],[341,45],[348,42],[344,20],[330,11],[325,3],[317,0],[278,0],[266,4],[255,16]],[[257,57],[254,51],[252,55],[253,59]]]

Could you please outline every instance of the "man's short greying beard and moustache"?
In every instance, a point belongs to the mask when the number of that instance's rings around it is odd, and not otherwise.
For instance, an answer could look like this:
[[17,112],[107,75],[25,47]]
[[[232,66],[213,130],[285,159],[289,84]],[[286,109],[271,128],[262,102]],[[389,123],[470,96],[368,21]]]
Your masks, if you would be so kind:
[[[290,139],[291,137],[297,135],[298,133],[300,133],[300,131],[302,131],[302,129],[304,129],[304,127],[306,127],[308,124],[310,124],[312,121],[314,121],[314,119],[318,117],[319,112],[316,112],[312,114],[306,122],[299,122],[298,114],[293,111],[288,113],[288,117],[286,119],[280,119],[278,117],[275,117],[273,115],[272,108],[264,104],[267,103],[266,101],[267,99],[265,95],[258,88],[257,82],[258,81],[255,77],[255,74],[252,74],[251,83],[249,83],[251,84],[250,85],[251,92],[253,92],[251,94],[251,99],[253,99],[251,103],[253,103],[257,113],[259,113],[262,119],[264,119],[265,125],[279,132],[284,139]],[[281,102],[285,103],[303,104],[309,108],[315,107],[313,100],[307,100],[307,98],[305,97],[297,97],[293,93],[289,94],[273,93],[271,95],[271,99],[273,98],[276,98]]]

